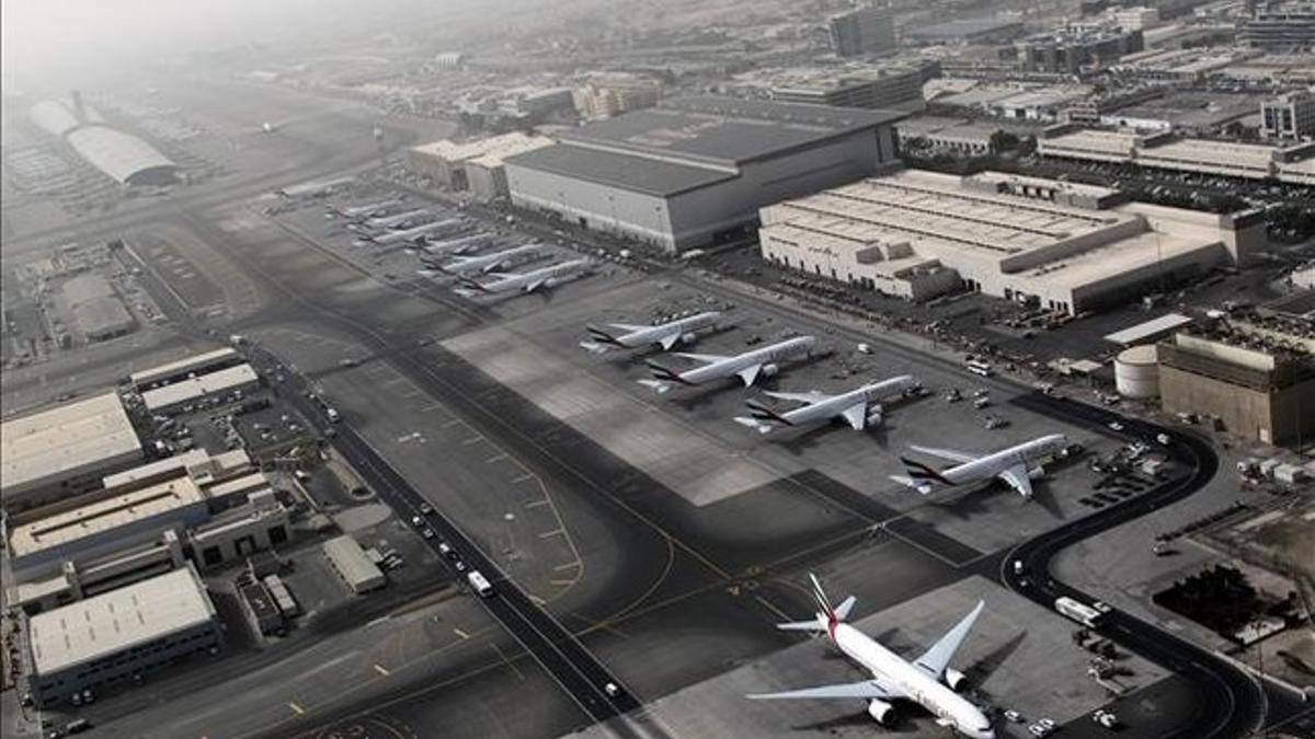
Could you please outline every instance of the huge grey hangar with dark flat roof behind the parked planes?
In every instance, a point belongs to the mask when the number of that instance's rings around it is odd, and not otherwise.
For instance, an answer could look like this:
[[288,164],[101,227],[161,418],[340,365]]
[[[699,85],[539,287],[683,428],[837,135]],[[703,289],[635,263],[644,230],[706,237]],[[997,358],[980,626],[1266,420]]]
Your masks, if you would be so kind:
[[894,158],[880,110],[689,97],[505,160],[513,205],[681,251],[742,238],[757,209]]

